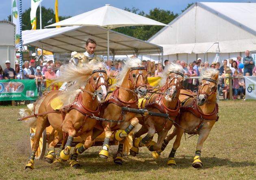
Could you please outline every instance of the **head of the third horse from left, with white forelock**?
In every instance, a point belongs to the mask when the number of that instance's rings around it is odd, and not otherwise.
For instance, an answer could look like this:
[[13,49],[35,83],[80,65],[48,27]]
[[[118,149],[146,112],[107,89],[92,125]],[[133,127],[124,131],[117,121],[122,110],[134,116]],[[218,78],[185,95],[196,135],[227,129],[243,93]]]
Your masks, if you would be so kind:
[[171,63],[165,67],[165,71],[163,74],[163,80],[161,80],[160,84],[164,83],[161,91],[164,93],[164,97],[167,101],[176,100],[177,94],[179,94],[180,89],[183,84],[184,71],[182,66],[178,64]]

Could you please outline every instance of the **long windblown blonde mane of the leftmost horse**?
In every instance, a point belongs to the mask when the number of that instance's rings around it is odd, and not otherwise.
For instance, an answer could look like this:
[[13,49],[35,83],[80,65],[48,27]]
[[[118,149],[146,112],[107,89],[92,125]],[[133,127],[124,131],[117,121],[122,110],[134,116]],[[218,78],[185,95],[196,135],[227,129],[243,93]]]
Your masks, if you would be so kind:
[[76,95],[81,92],[81,88],[85,88],[91,72],[96,69],[104,69],[104,64],[98,61],[84,63],[82,67],[76,67],[72,64],[61,66],[61,76],[55,78],[56,82],[66,82],[68,90],[61,91],[59,98],[63,102],[63,106],[72,104]]

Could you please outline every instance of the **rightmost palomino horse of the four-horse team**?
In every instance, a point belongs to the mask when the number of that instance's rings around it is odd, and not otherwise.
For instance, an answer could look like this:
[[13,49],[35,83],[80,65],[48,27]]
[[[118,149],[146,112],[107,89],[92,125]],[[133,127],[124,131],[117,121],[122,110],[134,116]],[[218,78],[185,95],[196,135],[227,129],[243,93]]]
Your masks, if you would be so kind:
[[219,119],[217,104],[219,72],[213,68],[202,69],[199,80],[201,83],[196,96],[189,91],[180,91],[180,116],[176,119],[176,123],[179,126],[175,126],[173,132],[168,135],[162,144],[161,150],[154,152],[158,158],[169,141],[177,135],[169,154],[167,165],[176,165],[174,160],[175,152],[180,146],[182,134],[185,132],[199,134],[192,166],[195,168],[202,168],[203,166],[200,159],[203,143],[207,139],[213,125]]

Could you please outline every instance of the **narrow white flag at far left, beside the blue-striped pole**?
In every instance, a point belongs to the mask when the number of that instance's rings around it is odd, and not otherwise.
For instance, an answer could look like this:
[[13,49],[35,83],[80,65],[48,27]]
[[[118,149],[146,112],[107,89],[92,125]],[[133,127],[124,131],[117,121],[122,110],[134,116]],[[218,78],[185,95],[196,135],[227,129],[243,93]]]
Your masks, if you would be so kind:
[[20,47],[20,16],[19,16],[19,7],[17,6],[17,0],[12,0],[12,16],[13,23],[16,25],[16,41],[15,46],[16,49]]

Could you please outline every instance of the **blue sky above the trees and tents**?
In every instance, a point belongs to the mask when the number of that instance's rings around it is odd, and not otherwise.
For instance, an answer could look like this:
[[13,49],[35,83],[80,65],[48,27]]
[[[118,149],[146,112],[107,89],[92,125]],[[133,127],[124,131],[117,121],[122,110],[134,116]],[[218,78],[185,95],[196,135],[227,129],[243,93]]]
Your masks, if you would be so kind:
[[[16,0],[18,2],[19,0]],[[181,13],[188,4],[197,2],[196,0],[58,0],[59,15],[75,16],[93,9],[111,4],[113,7],[124,9],[138,8],[140,11],[149,13],[150,9],[159,8],[169,10],[174,13]],[[256,0],[202,0],[201,2],[256,2]],[[30,0],[22,0],[22,12],[30,8]],[[55,0],[43,0],[42,6],[54,9]],[[1,0],[0,20],[7,20],[11,14],[11,0]]]

